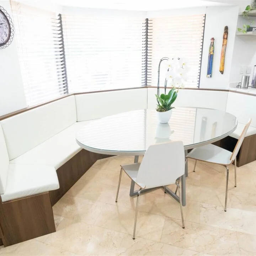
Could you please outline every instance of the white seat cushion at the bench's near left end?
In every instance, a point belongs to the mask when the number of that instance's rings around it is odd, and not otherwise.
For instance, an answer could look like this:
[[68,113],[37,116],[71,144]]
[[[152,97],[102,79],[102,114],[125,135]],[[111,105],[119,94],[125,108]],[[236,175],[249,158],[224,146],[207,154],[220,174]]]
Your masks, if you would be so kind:
[[10,164],[6,190],[1,198],[5,202],[58,188],[59,181],[54,167]]

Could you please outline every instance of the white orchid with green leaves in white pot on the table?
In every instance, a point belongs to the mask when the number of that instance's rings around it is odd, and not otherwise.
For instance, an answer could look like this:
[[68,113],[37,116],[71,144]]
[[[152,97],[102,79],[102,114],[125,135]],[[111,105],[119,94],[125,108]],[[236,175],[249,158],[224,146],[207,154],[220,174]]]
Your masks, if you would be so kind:
[[[159,95],[160,91],[160,65],[163,60],[168,60],[167,73],[165,75],[164,83],[164,94]],[[158,88],[157,88],[157,108],[156,114],[158,121],[160,123],[168,123],[171,115],[172,109],[174,108],[172,104],[175,102],[179,89],[183,86],[183,82],[187,79],[187,61],[181,58],[172,58],[171,60],[164,57],[160,60],[158,66]],[[171,90],[166,94],[167,85],[169,85]]]

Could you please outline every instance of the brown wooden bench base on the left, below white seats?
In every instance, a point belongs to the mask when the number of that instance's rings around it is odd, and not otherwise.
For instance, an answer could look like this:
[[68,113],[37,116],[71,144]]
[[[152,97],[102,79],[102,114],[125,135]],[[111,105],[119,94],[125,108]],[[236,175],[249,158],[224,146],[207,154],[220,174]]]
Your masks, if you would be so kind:
[[82,149],[57,170],[58,190],[8,202],[2,202],[0,198],[2,244],[9,246],[55,232],[52,206],[98,159],[107,157]]

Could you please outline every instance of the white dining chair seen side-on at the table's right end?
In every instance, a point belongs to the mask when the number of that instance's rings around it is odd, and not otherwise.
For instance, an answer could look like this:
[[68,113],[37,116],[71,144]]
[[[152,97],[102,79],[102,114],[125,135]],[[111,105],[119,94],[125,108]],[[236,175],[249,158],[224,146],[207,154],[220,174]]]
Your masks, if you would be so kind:
[[251,123],[251,118],[249,119],[248,123],[245,125],[244,130],[242,131],[233,152],[230,152],[226,149],[220,148],[219,146],[215,146],[213,144],[208,144],[208,145],[193,149],[187,155],[187,158],[196,160],[193,171],[195,171],[196,169],[197,160],[218,164],[218,165],[223,165],[226,168],[226,197],[225,197],[225,209],[224,209],[225,212],[227,209],[227,200],[228,200],[228,177],[229,177],[228,166],[235,161],[234,164],[235,164],[235,187],[236,187],[236,156],[245,138],[245,135],[250,126],[250,123]]

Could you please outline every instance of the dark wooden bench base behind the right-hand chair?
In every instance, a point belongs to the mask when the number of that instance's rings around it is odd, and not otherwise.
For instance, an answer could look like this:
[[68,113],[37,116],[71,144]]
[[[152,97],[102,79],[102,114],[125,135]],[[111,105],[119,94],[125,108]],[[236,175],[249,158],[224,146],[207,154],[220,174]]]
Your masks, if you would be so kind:
[[[238,142],[238,139],[228,136],[213,144],[233,152],[237,142]],[[244,141],[236,157],[236,165],[240,167],[242,165],[249,164],[250,162],[253,162],[255,160],[256,160],[256,134],[244,138]]]

